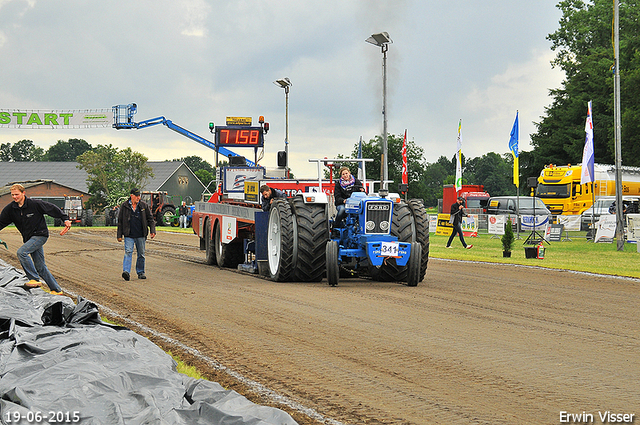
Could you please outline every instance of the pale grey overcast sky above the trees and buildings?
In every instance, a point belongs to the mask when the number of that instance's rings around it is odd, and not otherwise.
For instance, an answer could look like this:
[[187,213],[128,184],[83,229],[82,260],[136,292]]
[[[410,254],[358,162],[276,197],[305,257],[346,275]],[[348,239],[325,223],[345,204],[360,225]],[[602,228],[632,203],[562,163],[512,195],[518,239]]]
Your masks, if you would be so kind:
[[[520,149],[551,104],[546,40],[557,0],[0,0],[0,109],[90,109],[135,102],[137,121],[164,116],[202,137],[227,116],[264,115],[261,164],[284,150],[289,77],[292,171],[309,158],[349,155],[382,133],[382,53],[365,42],[386,31],[388,132],[453,156],[508,152],[516,110]],[[213,151],[160,125],[140,130],[0,128],[0,142],[48,148],[82,138],[131,147],[150,160]],[[252,158],[248,150],[236,152]]]

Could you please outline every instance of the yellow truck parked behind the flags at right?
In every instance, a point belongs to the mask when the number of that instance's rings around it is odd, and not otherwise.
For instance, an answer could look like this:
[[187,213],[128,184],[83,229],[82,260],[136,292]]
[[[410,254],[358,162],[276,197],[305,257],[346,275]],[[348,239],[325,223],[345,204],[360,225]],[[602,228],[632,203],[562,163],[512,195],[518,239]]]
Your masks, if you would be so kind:
[[[580,165],[548,165],[538,177],[536,196],[553,215],[580,215],[601,196],[616,194],[615,166],[595,164],[594,182],[580,184]],[[622,195],[640,195],[640,167],[622,169]]]

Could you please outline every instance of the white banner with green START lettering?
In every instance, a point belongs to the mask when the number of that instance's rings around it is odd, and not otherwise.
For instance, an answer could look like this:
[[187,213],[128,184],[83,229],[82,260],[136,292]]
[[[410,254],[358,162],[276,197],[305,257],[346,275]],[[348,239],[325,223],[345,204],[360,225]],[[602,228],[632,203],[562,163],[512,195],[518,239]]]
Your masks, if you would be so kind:
[[0,128],[60,129],[110,127],[113,110],[0,109]]

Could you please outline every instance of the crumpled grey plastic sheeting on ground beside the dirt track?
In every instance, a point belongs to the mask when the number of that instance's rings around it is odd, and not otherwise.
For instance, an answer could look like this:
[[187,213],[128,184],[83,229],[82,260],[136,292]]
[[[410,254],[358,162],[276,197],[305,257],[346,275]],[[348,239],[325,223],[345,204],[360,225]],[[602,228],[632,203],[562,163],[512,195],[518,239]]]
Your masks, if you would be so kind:
[[1,423],[296,424],[178,373],[147,338],[102,322],[94,303],[27,289],[27,280],[0,263]]

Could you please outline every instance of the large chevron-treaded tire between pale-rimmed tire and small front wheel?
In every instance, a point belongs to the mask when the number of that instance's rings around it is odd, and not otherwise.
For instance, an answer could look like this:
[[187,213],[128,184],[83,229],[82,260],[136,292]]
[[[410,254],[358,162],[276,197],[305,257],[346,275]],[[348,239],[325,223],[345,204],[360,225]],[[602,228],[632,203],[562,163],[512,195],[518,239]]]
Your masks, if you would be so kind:
[[300,282],[320,282],[326,268],[325,245],[329,240],[327,207],[305,204],[302,196],[293,198],[292,203],[297,226],[293,278]]

